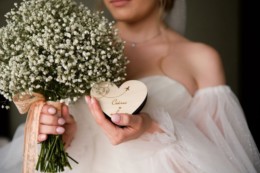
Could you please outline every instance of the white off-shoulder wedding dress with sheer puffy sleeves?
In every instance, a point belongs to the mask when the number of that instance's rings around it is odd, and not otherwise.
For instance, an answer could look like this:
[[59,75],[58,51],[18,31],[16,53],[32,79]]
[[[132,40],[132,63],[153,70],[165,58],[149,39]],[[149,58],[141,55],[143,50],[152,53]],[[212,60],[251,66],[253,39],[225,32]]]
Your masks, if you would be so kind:
[[[77,132],[67,148],[79,164],[70,160],[73,170],[66,173],[260,172],[259,151],[229,86],[200,89],[191,96],[185,86],[166,76],[139,80],[148,89],[142,112],[150,114],[165,133],[144,133],[113,146],[84,98],[79,99],[70,105]],[[0,149],[0,172],[21,172],[19,131]]]

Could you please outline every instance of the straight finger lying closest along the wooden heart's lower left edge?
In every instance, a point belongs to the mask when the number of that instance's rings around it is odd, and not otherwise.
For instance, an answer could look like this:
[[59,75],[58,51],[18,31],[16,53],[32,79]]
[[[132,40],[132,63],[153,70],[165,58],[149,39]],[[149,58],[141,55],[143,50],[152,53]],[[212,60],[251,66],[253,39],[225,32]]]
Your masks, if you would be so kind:
[[119,127],[115,126],[105,117],[96,98],[91,98],[91,104],[96,123],[99,125],[99,127],[107,131],[107,133],[110,135],[115,135]]

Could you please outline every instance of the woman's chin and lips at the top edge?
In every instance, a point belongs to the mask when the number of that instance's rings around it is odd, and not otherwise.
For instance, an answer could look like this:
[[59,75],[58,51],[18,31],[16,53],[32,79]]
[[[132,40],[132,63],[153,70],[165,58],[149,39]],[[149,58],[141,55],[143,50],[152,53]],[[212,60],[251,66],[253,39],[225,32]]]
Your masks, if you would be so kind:
[[158,0],[103,0],[117,21],[135,22],[158,9]]

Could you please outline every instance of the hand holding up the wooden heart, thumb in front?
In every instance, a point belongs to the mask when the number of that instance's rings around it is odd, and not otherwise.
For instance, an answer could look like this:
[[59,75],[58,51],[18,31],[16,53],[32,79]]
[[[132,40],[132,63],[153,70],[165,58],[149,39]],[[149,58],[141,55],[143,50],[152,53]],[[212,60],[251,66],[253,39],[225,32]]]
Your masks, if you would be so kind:
[[147,113],[139,113],[135,115],[113,114],[111,120],[114,123],[126,126],[124,128],[120,128],[105,117],[96,98],[91,98],[87,95],[85,96],[85,100],[88,103],[88,107],[94,116],[96,123],[103,130],[113,145],[118,145],[122,142],[137,139],[144,132],[164,132],[158,127],[158,123],[153,121]]

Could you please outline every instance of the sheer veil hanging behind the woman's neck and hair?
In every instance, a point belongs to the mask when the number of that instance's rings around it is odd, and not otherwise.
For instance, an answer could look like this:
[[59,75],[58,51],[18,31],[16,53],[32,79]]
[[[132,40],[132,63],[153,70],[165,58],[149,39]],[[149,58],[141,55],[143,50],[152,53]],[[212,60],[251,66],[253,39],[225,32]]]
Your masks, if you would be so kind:
[[184,35],[186,28],[186,1],[185,0],[175,0],[172,10],[167,14],[164,21],[166,24]]

